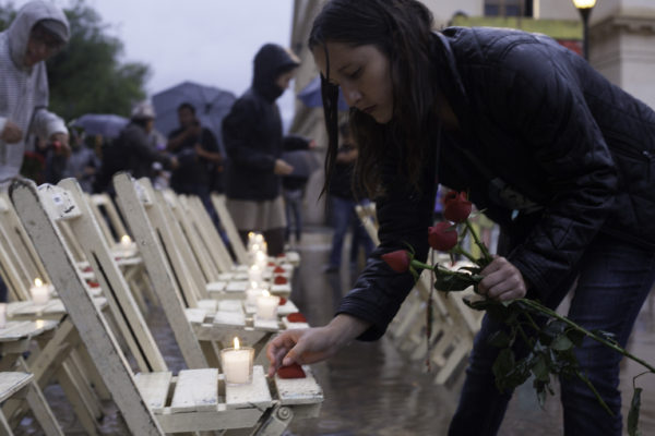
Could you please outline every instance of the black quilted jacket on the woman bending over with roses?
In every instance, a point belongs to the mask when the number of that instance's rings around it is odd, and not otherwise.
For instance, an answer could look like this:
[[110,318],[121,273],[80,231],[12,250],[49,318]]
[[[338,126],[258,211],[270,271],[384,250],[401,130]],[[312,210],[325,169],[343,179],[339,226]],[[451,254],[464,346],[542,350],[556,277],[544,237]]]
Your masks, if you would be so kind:
[[[543,35],[448,28],[434,36],[434,65],[460,122],[434,143],[439,182],[469,189],[511,237],[507,257],[531,292],[561,284],[596,237],[655,250],[652,109]],[[436,161],[426,159],[420,193],[393,162],[386,171],[381,245],[338,308],[373,324],[361,339],[384,332],[413,286],[379,255],[403,242],[427,255]]]

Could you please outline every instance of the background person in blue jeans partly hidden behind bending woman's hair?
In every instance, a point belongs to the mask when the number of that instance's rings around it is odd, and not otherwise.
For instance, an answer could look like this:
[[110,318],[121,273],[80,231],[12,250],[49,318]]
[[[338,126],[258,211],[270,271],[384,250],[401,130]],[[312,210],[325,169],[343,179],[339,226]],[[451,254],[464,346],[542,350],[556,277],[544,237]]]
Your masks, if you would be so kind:
[[348,228],[353,229],[353,241],[350,242],[350,265],[357,264],[359,247],[364,249],[368,257],[373,251],[373,241],[369,238],[366,229],[359,222],[355,206],[360,202],[368,202],[362,189],[355,189],[353,177],[355,162],[357,161],[357,147],[353,144],[350,128],[348,123],[342,123],[338,128],[342,145],[334,159],[334,168],[327,184],[330,195],[330,210],[334,234],[332,237],[332,249],[330,251],[330,263],[325,272],[338,271],[342,262],[344,239]]

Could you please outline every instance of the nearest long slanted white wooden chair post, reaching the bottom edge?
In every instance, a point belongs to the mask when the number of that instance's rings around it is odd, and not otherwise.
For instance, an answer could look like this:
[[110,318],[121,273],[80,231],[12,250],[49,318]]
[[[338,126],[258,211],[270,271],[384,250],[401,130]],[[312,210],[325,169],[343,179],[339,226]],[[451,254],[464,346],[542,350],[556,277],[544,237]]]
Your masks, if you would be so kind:
[[78,202],[56,186],[46,185],[39,192],[32,181],[14,182],[11,198],[130,432],[133,435],[164,435],[144,402],[105,317],[86,291],[57,226],[56,220],[60,219],[80,220],[83,213]]

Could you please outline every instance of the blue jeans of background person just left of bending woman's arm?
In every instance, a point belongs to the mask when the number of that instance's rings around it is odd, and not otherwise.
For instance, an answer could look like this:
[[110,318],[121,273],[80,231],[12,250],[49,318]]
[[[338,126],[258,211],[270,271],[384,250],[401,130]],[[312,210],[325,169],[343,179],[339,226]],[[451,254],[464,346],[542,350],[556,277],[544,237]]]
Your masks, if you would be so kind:
[[369,238],[364,226],[359,222],[359,218],[355,211],[357,202],[331,195],[330,205],[332,207],[332,226],[334,226],[332,251],[330,252],[330,265],[335,267],[341,265],[342,249],[344,246],[344,238],[348,232],[348,227],[353,228],[350,262],[357,261],[357,253],[360,246],[364,247],[365,253],[368,256],[373,250],[373,242]]

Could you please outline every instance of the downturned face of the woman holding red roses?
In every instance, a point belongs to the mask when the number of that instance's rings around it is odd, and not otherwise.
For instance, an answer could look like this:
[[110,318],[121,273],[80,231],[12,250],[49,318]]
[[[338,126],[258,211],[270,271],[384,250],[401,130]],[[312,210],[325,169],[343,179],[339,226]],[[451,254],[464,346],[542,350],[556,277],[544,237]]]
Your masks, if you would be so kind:
[[[330,57],[326,71],[325,48]],[[393,84],[389,58],[376,46],[353,47],[326,43],[313,49],[317,66],[330,82],[338,85],[346,102],[384,124],[393,117]]]

